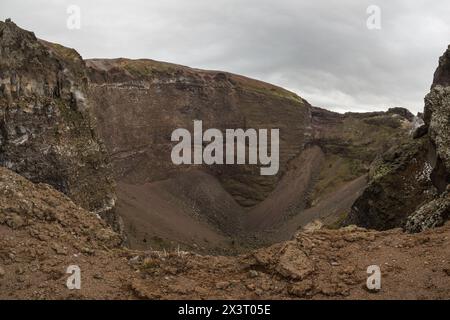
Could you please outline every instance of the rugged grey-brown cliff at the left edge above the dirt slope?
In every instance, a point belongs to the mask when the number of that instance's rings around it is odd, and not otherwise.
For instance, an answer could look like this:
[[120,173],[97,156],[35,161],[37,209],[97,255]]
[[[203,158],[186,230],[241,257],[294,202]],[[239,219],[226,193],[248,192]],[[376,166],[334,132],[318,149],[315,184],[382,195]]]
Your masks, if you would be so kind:
[[0,22],[0,165],[107,214],[114,181],[87,83],[76,51]]

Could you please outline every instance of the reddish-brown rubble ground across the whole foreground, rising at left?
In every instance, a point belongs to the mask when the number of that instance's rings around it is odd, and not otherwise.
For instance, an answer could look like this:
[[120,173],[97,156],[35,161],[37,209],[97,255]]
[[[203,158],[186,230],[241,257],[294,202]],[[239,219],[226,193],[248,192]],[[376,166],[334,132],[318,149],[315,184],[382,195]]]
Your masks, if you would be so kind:
[[[101,219],[48,185],[0,168],[0,298],[450,298],[450,225],[404,234],[300,232],[235,257],[132,251]],[[66,287],[78,265],[81,290]],[[378,265],[382,289],[365,289]]]

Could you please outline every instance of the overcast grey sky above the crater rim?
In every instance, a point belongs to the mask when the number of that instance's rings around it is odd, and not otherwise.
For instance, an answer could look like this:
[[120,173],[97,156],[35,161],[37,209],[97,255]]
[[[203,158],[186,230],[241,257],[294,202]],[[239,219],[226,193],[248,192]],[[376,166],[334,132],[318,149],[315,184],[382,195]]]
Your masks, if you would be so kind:
[[[71,4],[79,30],[67,27]],[[370,5],[380,30],[366,26]],[[1,0],[0,19],[9,17],[84,58],[230,71],[336,111],[422,111],[450,44],[449,0]]]

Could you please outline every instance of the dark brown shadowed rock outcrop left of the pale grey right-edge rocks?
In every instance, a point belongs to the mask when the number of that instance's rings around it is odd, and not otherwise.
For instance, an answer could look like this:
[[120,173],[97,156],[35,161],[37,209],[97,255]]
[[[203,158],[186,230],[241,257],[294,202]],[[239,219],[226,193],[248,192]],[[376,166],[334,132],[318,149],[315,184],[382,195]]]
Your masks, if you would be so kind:
[[422,203],[434,196],[427,138],[393,147],[378,158],[369,184],[355,201],[343,225],[386,230],[402,226]]

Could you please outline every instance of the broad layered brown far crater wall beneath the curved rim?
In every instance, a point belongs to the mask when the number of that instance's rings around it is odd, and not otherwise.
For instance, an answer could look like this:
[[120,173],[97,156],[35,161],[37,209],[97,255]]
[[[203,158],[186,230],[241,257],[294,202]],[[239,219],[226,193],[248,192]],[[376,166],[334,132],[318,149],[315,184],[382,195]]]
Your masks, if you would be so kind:
[[261,176],[259,165],[208,167],[243,206],[274,189],[287,163],[309,139],[310,106],[276,86],[224,72],[152,60],[88,60],[90,97],[112,155],[116,177],[127,183],[166,179],[189,169],[170,154],[177,128],[280,129],[280,170]]

